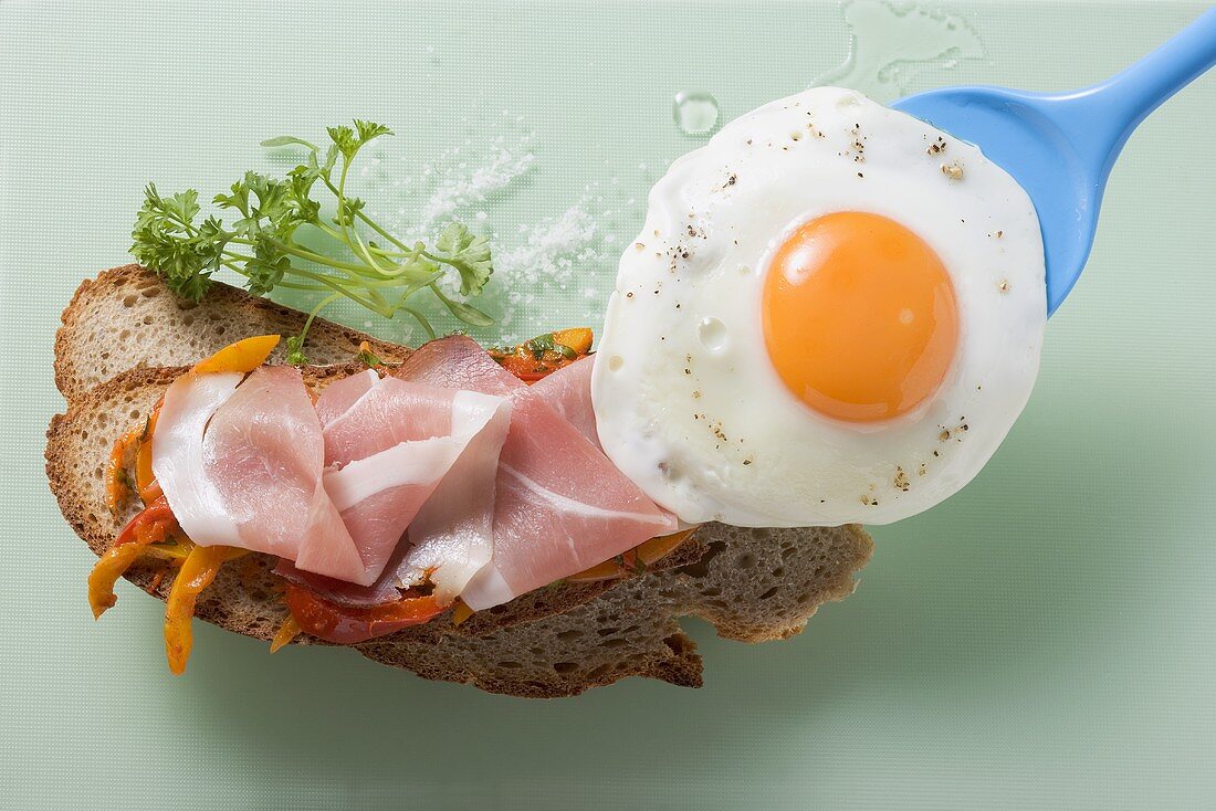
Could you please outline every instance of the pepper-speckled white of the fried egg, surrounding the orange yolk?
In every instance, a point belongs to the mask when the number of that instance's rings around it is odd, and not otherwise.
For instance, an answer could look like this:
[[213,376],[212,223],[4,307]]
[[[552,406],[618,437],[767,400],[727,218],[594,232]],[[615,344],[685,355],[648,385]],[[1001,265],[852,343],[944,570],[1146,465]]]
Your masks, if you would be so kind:
[[[770,255],[800,224],[848,210],[928,242],[958,305],[942,385],[882,423],[803,404],[761,327]],[[592,377],[599,439],[685,522],[889,523],[948,497],[992,456],[1030,396],[1046,321],[1038,220],[1004,170],[860,94],[807,90],[726,125],[651,191]]]

